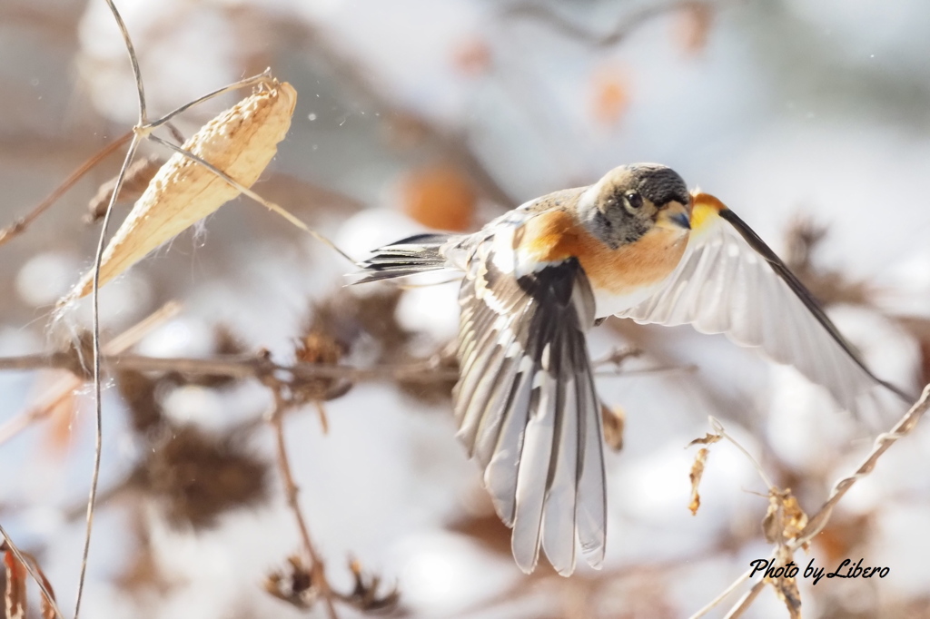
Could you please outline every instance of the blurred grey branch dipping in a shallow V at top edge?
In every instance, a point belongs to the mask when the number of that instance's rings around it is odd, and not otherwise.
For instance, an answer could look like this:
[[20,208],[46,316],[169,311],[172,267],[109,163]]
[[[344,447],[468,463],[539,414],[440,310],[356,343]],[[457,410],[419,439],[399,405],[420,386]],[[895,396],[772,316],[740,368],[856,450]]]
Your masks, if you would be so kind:
[[591,32],[580,24],[566,19],[565,16],[560,15],[557,11],[552,10],[551,7],[530,4],[527,2],[519,2],[505,8],[501,13],[501,17],[522,17],[542,21],[560,33],[565,34],[565,36],[568,36],[569,38],[575,39],[582,43],[587,43],[592,46],[609,47],[617,45],[633,31],[642,26],[646,21],[653,20],[659,16],[665,15],[666,13],[684,10],[686,8],[696,6],[710,8],[713,4],[714,3],[701,2],[699,0],[684,0],[667,4],[653,5],[649,7],[641,7],[639,10],[625,15],[623,19],[620,20],[614,26],[614,28],[607,33]]

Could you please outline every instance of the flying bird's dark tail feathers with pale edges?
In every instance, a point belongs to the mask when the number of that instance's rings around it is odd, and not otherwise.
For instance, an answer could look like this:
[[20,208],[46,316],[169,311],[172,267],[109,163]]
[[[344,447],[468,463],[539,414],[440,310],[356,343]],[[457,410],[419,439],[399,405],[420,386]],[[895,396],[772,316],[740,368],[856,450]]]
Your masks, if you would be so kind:
[[441,253],[449,234],[417,234],[376,249],[371,257],[359,262],[364,277],[354,283],[378,282],[428,270],[444,269]]

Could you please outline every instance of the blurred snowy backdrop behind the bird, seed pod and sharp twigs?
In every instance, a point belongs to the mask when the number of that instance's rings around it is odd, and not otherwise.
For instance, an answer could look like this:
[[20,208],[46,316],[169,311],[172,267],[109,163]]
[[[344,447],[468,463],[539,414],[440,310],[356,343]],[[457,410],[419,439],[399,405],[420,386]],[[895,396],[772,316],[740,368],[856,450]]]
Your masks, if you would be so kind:
[[[914,392],[926,382],[930,6],[922,0],[118,6],[153,116],[269,66],[295,86],[290,134],[254,189],[354,257],[412,230],[473,230],[616,165],[661,162],[793,257],[878,375]],[[126,132],[137,112],[102,0],[0,4],[0,85],[3,226]],[[179,131],[190,136],[234,100],[185,114]],[[166,156],[154,146],[145,153]],[[105,159],[0,245],[0,355],[61,349],[89,324],[86,309],[62,323],[51,315],[91,262],[100,229],[86,223],[86,204],[118,165],[118,156]],[[118,209],[114,221],[127,212]],[[826,234],[808,260],[812,230]],[[342,362],[360,366],[424,359],[454,335],[455,284],[344,290],[350,270],[239,200],[107,286],[103,328],[115,336],[178,299],[179,315],[134,352],[268,349],[293,362],[295,342],[326,325],[339,332]],[[711,449],[702,507],[697,516],[687,509],[696,448],[684,447],[710,429],[708,415],[808,513],[875,433],[790,368],[722,336],[613,321],[590,341],[595,357],[644,351],[598,380],[604,401],[626,413],[623,449],[607,460],[603,571],[579,569],[567,580],[545,565],[520,573],[509,532],[454,438],[450,385],[382,380],[326,402],[326,434],[313,406],[285,421],[300,504],[334,586],[351,588],[351,557],[386,588],[396,584],[399,616],[689,616],[770,550],[760,529],[765,486],[732,445]],[[666,370],[637,372],[657,367]],[[0,373],[0,436],[62,375]],[[66,614],[91,472],[87,391],[0,443],[0,522],[36,555]],[[140,393],[148,396],[133,401]],[[261,586],[299,549],[272,432],[254,423],[270,403],[255,381],[108,379],[86,616],[305,614]],[[185,451],[184,436],[203,458]],[[805,616],[930,616],[928,454],[930,430],[919,427],[844,499],[809,556],[799,554],[803,565],[862,557],[890,574],[816,587],[802,580]],[[710,616],[723,616],[728,601]],[[311,612],[325,616],[322,604]],[[347,605],[339,612],[358,614]],[[746,616],[788,614],[769,588]]]

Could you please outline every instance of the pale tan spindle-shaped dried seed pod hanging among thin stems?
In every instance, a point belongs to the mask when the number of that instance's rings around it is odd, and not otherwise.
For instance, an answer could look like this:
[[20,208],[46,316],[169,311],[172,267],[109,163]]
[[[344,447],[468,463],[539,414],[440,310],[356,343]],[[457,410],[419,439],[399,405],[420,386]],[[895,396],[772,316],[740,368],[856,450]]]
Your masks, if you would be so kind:
[[[292,86],[272,81],[221,112],[182,148],[251,187],[285,138],[296,102]],[[155,174],[104,250],[100,285],[237,195],[238,190],[206,167],[175,153]],[[86,296],[92,287],[90,271],[60,305]]]

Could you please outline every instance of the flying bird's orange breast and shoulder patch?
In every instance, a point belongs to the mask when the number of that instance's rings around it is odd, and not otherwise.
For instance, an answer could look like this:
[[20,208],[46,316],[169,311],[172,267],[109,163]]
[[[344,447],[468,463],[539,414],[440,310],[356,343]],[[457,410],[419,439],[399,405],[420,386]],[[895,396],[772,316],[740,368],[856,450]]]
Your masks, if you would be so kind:
[[614,295],[661,282],[678,266],[687,235],[653,228],[631,244],[611,249],[563,210],[533,217],[518,234],[518,251],[541,262],[577,257],[591,286]]

